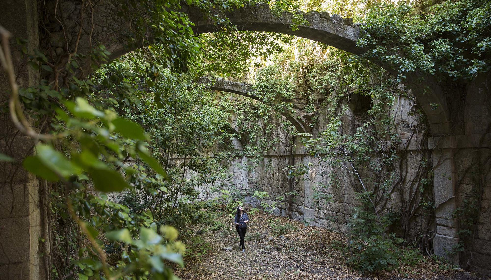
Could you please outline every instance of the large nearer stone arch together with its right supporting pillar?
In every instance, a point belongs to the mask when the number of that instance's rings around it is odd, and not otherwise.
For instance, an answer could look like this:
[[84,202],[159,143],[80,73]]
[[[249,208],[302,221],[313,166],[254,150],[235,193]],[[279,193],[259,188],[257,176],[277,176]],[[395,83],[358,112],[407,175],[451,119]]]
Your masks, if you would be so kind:
[[[184,6],[191,22],[195,23],[195,34],[223,31],[213,21],[205,18],[199,8]],[[303,13],[303,12],[302,12]],[[330,16],[326,12],[310,11],[305,13],[307,23],[297,26],[293,30],[293,15],[287,12],[275,17],[267,4],[246,6],[225,15],[230,23],[237,26],[237,30],[244,31],[269,31],[294,35],[332,47],[348,51],[356,55],[362,55],[367,49],[357,47],[356,41],[360,38],[360,27],[353,24],[351,19],[343,19],[338,15]],[[108,42],[107,38],[101,38],[101,42]],[[151,36],[147,36],[146,42],[153,42]],[[111,59],[119,57],[134,49],[122,47],[122,44],[109,45],[112,52]],[[140,45],[139,47],[143,47]],[[396,65],[373,61],[393,75],[398,75]],[[457,147],[456,134],[453,120],[458,118],[450,113],[449,104],[445,97],[445,91],[438,84],[436,77],[422,72],[407,73],[405,85],[411,89],[418,103],[426,114],[430,135],[428,148],[434,151],[432,165],[435,173],[457,174],[454,162],[454,150]],[[458,132],[457,132],[458,133]],[[403,139],[408,141],[409,139]],[[437,158],[447,159],[443,162]],[[436,236],[434,237],[435,254],[446,256],[445,251],[451,251],[457,244],[457,225],[451,212],[455,209],[456,180],[434,178],[435,202],[436,202]],[[440,207],[441,206],[441,207]]]

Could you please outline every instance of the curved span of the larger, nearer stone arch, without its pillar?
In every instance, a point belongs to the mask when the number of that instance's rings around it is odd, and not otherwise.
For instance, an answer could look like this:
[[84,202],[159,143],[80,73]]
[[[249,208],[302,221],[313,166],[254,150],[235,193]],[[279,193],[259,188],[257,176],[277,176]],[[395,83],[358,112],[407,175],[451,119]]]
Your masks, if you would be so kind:
[[[219,32],[223,29],[215,22],[204,17],[197,7],[183,6],[183,12],[189,15],[195,34]],[[362,55],[368,49],[356,46],[360,38],[360,24],[354,24],[353,19],[343,19],[339,15],[329,15],[327,12],[309,11],[304,13],[307,23],[292,29],[293,14],[283,12],[280,17],[273,15],[268,4],[258,4],[236,9],[225,14],[230,23],[241,31],[266,31],[289,34],[328,46],[336,47],[347,52]],[[107,41],[107,40],[106,40]],[[102,40],[104,42],[104,40]],[[148,35],[146,42],[152,42]],[[115,59],[140,46],[123,47],[120,43],[112,42],[108,48],[111,51],[110,59]],[[396,66],[374,61],[393,75],[398,74]],[[444,93],[431,75],[419,72],[408,74],[406,84],[411,88],[423,111],[428,117],[432,135],[449,135],[452,132],[449,109]]]

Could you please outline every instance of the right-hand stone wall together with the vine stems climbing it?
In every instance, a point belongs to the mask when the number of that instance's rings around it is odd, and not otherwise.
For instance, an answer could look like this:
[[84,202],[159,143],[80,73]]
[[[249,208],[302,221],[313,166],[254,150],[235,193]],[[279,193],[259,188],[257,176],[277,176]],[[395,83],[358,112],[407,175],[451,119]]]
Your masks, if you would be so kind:
[[[456,263],[472,263],[472,269],[489,274],[491,167],[487,134],[484,133],[489,124],[468,122],[466,129],[469,132],[475,130],[469,134],[476,134],[476,137],[461,137],[462,142],[457,144],[462,148],[453,150],[453,170],[458,171],[445,171],[449,166],[446,163],[449,154],[440,148],[450,147],[451,143],[429,137],[424,115],[417,111],[416,100],[403,85],[400,85],[400,90],[404,93],[383,109],[393,123],[393,135],[397,139],[388,138],[385,146],[375,148],[368,162],[376,165],[380,160],[376,156],[378,153],[390,154],[392,151],[397,156],[378,172],[364,170],[374,168],[370,163],[356,171],[364,187],[376,192],[376,209],[390,217],[389,230],[404,237],[408,243],[419,244],[428,253],[446,256]],[[488,116],[489,107],[486,106],[489,105],[484,100],[485,96],[476,93],[473,98],[477,100],[468,100],[468,107],[474,106],[472,108],[476,111],[468,110],[466,118],[470,120],[476,114],[478,119]],[[377,102],[370,96],[350,94],[345,97],[339,105],[340,108],[346,105],[347,109],[341,112],[338,132],[347,136],[358,133],[359,137],[361,131],[361,135],[370,137],[374,131],[380,131],[377,125],[381,125],[381,119],[374,125],[370,121],[374,117],[368,114]],[[309,131],[312,137],[328,128],[327,112],[321,110],[317,116],[318,121]],[[245,201],[253,207],[263,209],[264,203],[274,204],[275,208],[269,210],[277,215],[288,215],[313,226],[347,232],[350,218],[363,210],[359,209],[362,206],[359,192],[363,191],[363,186],[350,161],[342,151],[338,151],[341,154],[339,158],[328,161],[326,155],[312,153],[299,138],[296,138],[293,154],[290,154],[288,135],[282,134],[280,128],[278,130],[280,133],[277,135],[285,139],[263,158],[242,157],[232,164],[231,184],[240,189]],[[292,158],[293,163],[305,166],[306,170],[293,179],[295,194],[290,207],[285,193],[289,180],[287,166],[293,165]],[[389,165],[391,167],[386,168]],[[449,188],[449,183],[455,189]],[[270,196],[258,199],[253,196],[257,190],[267,191]],[[322,199],[326,194],[330,197],[328,202]],[[283,200],[278,201],[278,197]],[[449,205],[449,202],[455,204]],[[472,249],[463,250],[464,247]]]

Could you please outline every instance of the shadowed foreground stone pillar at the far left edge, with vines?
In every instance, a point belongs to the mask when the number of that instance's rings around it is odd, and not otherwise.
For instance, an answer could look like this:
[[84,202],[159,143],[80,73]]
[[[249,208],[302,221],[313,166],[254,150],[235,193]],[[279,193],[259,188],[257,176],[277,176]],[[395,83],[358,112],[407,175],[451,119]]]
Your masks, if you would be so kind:
[[[0,25],[13,37],[10,47],[17,83],[21,87],[38,84],[38,74],[25,67],[15,40],[27,39],[29,51],[38,47],[37,3],[2,0],[1,7]],[[7,77],[0,70],[0,106],[4,109],[9,95]],[[36,280],[39,279],[39,187],[36,178],[22,168],[22,159],[31,153],[33,142],[19,133],[9,114],[0,116],[0,152],[15,159],[13,163],[0,162],[0,278]]]

